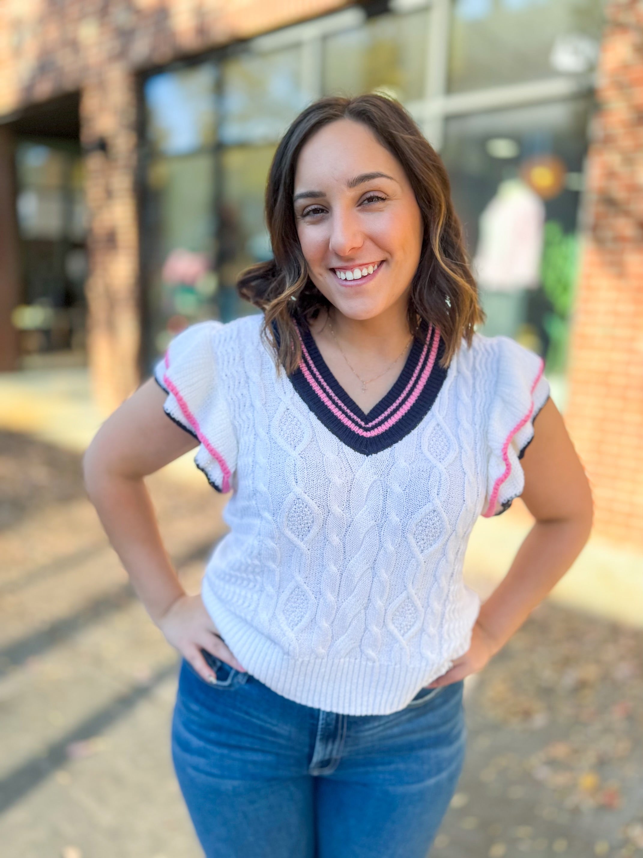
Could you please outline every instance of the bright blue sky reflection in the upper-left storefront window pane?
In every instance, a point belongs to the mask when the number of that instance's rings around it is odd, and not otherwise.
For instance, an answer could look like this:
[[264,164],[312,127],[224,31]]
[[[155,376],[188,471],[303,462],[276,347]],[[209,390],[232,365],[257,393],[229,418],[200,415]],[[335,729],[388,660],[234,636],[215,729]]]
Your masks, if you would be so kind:
[[213,145],[215,82],[216,67],[211,63],[147,79],[147,139],[155,150],[188,154]]

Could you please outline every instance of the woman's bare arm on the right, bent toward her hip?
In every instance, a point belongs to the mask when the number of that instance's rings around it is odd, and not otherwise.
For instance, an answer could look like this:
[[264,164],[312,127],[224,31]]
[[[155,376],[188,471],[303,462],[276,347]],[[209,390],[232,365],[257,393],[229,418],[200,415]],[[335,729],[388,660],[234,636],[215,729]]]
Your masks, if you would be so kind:
[[534,428],[522,458],[522,499],[536,522],[507,575],[480,608],[470,650],[431,687],[484,668],[568,571],[589,537],[592,492],[554,402],[546,402]]

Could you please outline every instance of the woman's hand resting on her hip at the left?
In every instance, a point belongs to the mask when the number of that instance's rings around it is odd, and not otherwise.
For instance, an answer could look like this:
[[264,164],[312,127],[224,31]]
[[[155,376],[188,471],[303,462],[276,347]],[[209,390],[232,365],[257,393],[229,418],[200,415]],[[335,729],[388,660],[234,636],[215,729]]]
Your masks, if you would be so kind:
[[237,662],[219,636],[200,594],[179,596],[157,625],[168,644],[178,650],[206,682],[214,683],[217,678],[201,650],[206,650],[235,670],[245,673],[245,668]]

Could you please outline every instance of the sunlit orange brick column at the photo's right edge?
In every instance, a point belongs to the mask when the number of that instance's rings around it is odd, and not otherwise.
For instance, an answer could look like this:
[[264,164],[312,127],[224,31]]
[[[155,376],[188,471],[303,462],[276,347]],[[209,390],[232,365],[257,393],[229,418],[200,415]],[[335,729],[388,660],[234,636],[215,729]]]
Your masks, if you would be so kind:
[[566,420],[596,532],[643,547],[643,0],[606,14]]

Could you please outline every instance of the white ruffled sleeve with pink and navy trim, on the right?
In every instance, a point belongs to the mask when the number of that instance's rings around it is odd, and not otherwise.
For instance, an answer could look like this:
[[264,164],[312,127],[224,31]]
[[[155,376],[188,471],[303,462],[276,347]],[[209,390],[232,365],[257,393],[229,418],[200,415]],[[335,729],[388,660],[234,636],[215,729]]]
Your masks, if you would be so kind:
[[483,516],[498,516],[520,497],[520,459],[534,435],[533,421],[550,396],[544,361],[514,340],[496,339],[496,384],[488,424],[487,491]]

